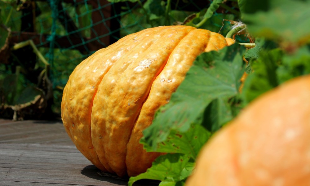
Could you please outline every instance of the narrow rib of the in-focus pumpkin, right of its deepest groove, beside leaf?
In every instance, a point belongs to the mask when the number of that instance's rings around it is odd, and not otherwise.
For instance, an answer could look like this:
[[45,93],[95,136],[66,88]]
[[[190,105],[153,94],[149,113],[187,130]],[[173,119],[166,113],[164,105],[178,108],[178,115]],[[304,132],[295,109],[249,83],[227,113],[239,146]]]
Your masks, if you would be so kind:
[[[206,43],[208,43],[209,40],[209,31],[198,29],[191,30],[186,36],[184,36],[184,38],[182,38],[182,40],[171,52],[164,69],[156,77],[156,82],[153,82],[150,89],[150,93],[152,92],[152,94],[150,95],[149,93],[147,103],[142,106],[143,113],[140,113],[141,117],[139,117],[139,123],[135,124],[130,143],[127,144],[127,146],[131,146],[131,148],[129,148],[129,153],[126,156],[126,163],[129,164],[127,166],[127,174],[129,176],[134,176],[140,172],[145,172],[159,155],[164,154],[147,153],[143,149],[143,145],[139,144],[139,139],[143,135],[142,131],[151,125],[156,110],[160,106],[167,103],[167,100],[170,99],[171,94],[185,78],[187,71],[192,66],[197,55],[201,54],[205,50]],[[179,55],[184,54],[184,52],[187,52],[186,56]],[[181,66],[178,68],[178,65],[180,64]],[[173,72],[169,73],[170,70],[173,70]],[[182,70],[181,73],[179,73],[180,70]],[[162,82],[163,78],[166,79]],[[167,80],[171,80],[171,82],[167,82]],[[137,149],[139,149],[141,153],[137,153]],[[147,163],[144,165],[139,163],[140,161]]]

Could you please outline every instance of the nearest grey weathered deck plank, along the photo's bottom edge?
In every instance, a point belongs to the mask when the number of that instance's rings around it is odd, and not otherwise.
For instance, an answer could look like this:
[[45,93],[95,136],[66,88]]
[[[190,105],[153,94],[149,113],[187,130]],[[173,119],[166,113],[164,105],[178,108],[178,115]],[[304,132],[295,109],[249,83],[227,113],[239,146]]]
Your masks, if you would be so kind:
[[[100,176],[100,170],[72,146],[57,146],[0,144],[0,180],[4,181],[1,184],[127,185],[128,180]],[[66,148],[69,152],[64,151]]]

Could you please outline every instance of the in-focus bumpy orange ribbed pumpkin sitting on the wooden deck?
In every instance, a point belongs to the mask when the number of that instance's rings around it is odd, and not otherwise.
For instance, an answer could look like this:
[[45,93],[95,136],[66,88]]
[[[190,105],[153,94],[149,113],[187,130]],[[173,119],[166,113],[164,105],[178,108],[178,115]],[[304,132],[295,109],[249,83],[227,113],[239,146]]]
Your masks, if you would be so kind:
[[201,52],[232,39],[189,26],[145,29],[82,61],[64,88],[61,116],[70,138],[100,170],[119,176],[146,171],[159,153],[139,144]]

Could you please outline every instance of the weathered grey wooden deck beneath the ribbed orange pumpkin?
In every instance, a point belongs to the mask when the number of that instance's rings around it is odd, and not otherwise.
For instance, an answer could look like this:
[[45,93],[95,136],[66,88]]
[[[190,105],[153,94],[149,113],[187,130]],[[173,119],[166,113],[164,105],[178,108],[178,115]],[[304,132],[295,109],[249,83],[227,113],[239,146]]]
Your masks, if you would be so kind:
[[61,121],[0,119],[0,185],[127,185],[128,180],[99,174],[76,149]]

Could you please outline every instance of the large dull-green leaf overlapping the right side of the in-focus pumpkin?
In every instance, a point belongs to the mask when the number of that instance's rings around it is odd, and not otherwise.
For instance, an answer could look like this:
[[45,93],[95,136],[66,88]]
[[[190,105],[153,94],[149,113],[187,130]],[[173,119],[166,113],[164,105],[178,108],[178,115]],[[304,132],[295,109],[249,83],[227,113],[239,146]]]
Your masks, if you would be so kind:
[[153,124],[143,131],[141,142],[157,151],[158,144],[165,142],[170,133],[184,133],[193,123],[201,123],[212,100],[237,95],[244,72],[244,51],[244,47],[234,44],[199,55],[169,104],[157,111]]

